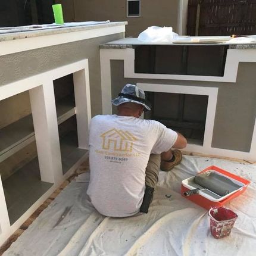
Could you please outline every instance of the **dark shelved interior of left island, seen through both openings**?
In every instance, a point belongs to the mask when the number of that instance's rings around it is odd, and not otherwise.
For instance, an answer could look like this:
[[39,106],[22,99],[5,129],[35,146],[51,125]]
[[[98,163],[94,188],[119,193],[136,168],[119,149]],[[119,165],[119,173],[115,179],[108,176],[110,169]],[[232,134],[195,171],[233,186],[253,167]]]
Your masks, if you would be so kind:
[[[64,174],[86,153],[77,139],[73,74],[54,80],[54,94]],[[13,224],[53,183],[40,177],[29,91],[0,101],[0,113],[0,174]]]

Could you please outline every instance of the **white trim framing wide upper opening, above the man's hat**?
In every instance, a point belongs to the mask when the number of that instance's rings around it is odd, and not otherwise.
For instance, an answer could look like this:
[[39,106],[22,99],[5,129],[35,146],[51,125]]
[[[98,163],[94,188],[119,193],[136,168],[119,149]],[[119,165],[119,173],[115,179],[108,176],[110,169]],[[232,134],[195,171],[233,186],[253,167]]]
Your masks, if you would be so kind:
[[110,114],[111,110],[111,60],[124,61],[124,78],[191,80],[208,82],[236,82],[240,62],[256,62],[255,49],[228,49],[224,76],[186,76],[176,74],[141,74],[135,73],[135,49],[100,49],[102,113]]

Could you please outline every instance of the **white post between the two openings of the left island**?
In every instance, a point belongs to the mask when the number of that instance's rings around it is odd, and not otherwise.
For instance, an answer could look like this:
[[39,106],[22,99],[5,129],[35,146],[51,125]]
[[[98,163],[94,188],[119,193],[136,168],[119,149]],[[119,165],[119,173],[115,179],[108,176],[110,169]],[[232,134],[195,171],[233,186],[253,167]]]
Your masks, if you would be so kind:
[[52,81],[29,91],[41,180],[55,183],[63,176],[57,113]]

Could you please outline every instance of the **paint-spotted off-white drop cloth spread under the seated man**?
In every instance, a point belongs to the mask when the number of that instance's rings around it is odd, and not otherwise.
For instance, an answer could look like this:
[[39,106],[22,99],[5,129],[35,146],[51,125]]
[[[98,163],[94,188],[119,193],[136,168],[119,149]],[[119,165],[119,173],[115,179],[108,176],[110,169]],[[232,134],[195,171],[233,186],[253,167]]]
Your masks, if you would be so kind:
[[[238,219],[230,236],[222,239],[211,236],[207,210],[180,195],[183,179],[211,165],[251,180],[245,193],[226,205]],[[4,255],[255,255],[255,165],[185,156],[170,172],[161,171],[159,178],[148,214],[111,218],[90,205],[86,197],[89,173],[83,173]]]

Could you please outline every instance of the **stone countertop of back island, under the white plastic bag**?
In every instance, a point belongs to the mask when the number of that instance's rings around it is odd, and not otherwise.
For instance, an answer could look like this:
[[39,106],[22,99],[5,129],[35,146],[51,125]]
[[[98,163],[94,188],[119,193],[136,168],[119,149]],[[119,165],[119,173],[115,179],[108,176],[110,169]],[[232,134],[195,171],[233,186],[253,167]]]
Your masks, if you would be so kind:
[[[253,36],[255,37],[255,36]],[[186,46],[210,46],[210,45],[229,45],[230,49],[256,49],[256,43],[149,43],[138,40],[138,38],[123,38],[100,45],[102,49],[127,49],[133,48],[134,45],[186,45]]]

